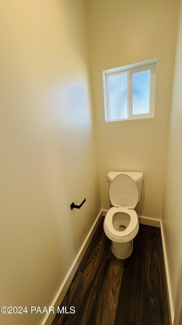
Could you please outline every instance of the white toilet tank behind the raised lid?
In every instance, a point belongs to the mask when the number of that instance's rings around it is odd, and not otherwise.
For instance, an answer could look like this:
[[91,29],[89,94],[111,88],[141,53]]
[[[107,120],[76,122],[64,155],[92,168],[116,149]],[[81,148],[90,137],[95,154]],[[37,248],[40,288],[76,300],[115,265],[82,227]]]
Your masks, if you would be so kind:
[[140,198],[141,198],[143,173],[141,173],[141,172],[108,172],[109,186],[110,186],[111,182],[113,181],[113,179],[120,174],[126,174],[126,175],[130,176],[132,178],[132,180],[135,182],[135,184],[138,188],[138,202],[139,202]]

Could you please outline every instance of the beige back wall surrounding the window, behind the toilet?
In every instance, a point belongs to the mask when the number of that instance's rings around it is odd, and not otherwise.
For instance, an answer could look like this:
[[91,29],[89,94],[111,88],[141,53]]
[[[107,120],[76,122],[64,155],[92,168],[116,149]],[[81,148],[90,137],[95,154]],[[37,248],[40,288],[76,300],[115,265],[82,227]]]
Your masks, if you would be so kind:
[[[86,3],[102,208],[109,208],[108,171],[141,171],[136,212],[161,218],[178,0]],[[155,117],[105,123],[102,71],[154,58]]]

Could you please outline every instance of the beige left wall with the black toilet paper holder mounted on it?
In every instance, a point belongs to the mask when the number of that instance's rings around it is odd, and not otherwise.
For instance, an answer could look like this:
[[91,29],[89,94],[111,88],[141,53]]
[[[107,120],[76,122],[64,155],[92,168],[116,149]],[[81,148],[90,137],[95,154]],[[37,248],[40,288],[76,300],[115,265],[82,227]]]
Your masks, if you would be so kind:
[[0,21],[0,305],[43,307],[101,209],[84,1],[2,0]]

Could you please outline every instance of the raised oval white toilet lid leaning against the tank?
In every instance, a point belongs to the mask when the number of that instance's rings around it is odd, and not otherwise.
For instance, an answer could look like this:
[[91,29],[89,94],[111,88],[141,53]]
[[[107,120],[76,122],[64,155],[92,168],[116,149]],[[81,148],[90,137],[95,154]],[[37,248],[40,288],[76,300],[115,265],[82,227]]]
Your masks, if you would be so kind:
[[130,176],[121,174],[113,179],[109,197],[113,206],[134,209],[138,202],[138,188]]

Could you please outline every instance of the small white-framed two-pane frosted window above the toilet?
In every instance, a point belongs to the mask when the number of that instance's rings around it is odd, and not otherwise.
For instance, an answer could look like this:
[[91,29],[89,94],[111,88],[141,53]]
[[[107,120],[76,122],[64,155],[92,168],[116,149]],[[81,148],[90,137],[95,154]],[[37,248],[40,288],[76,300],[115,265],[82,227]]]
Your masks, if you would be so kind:
[[154,117],[156,59],[103,71],[105,121]]

